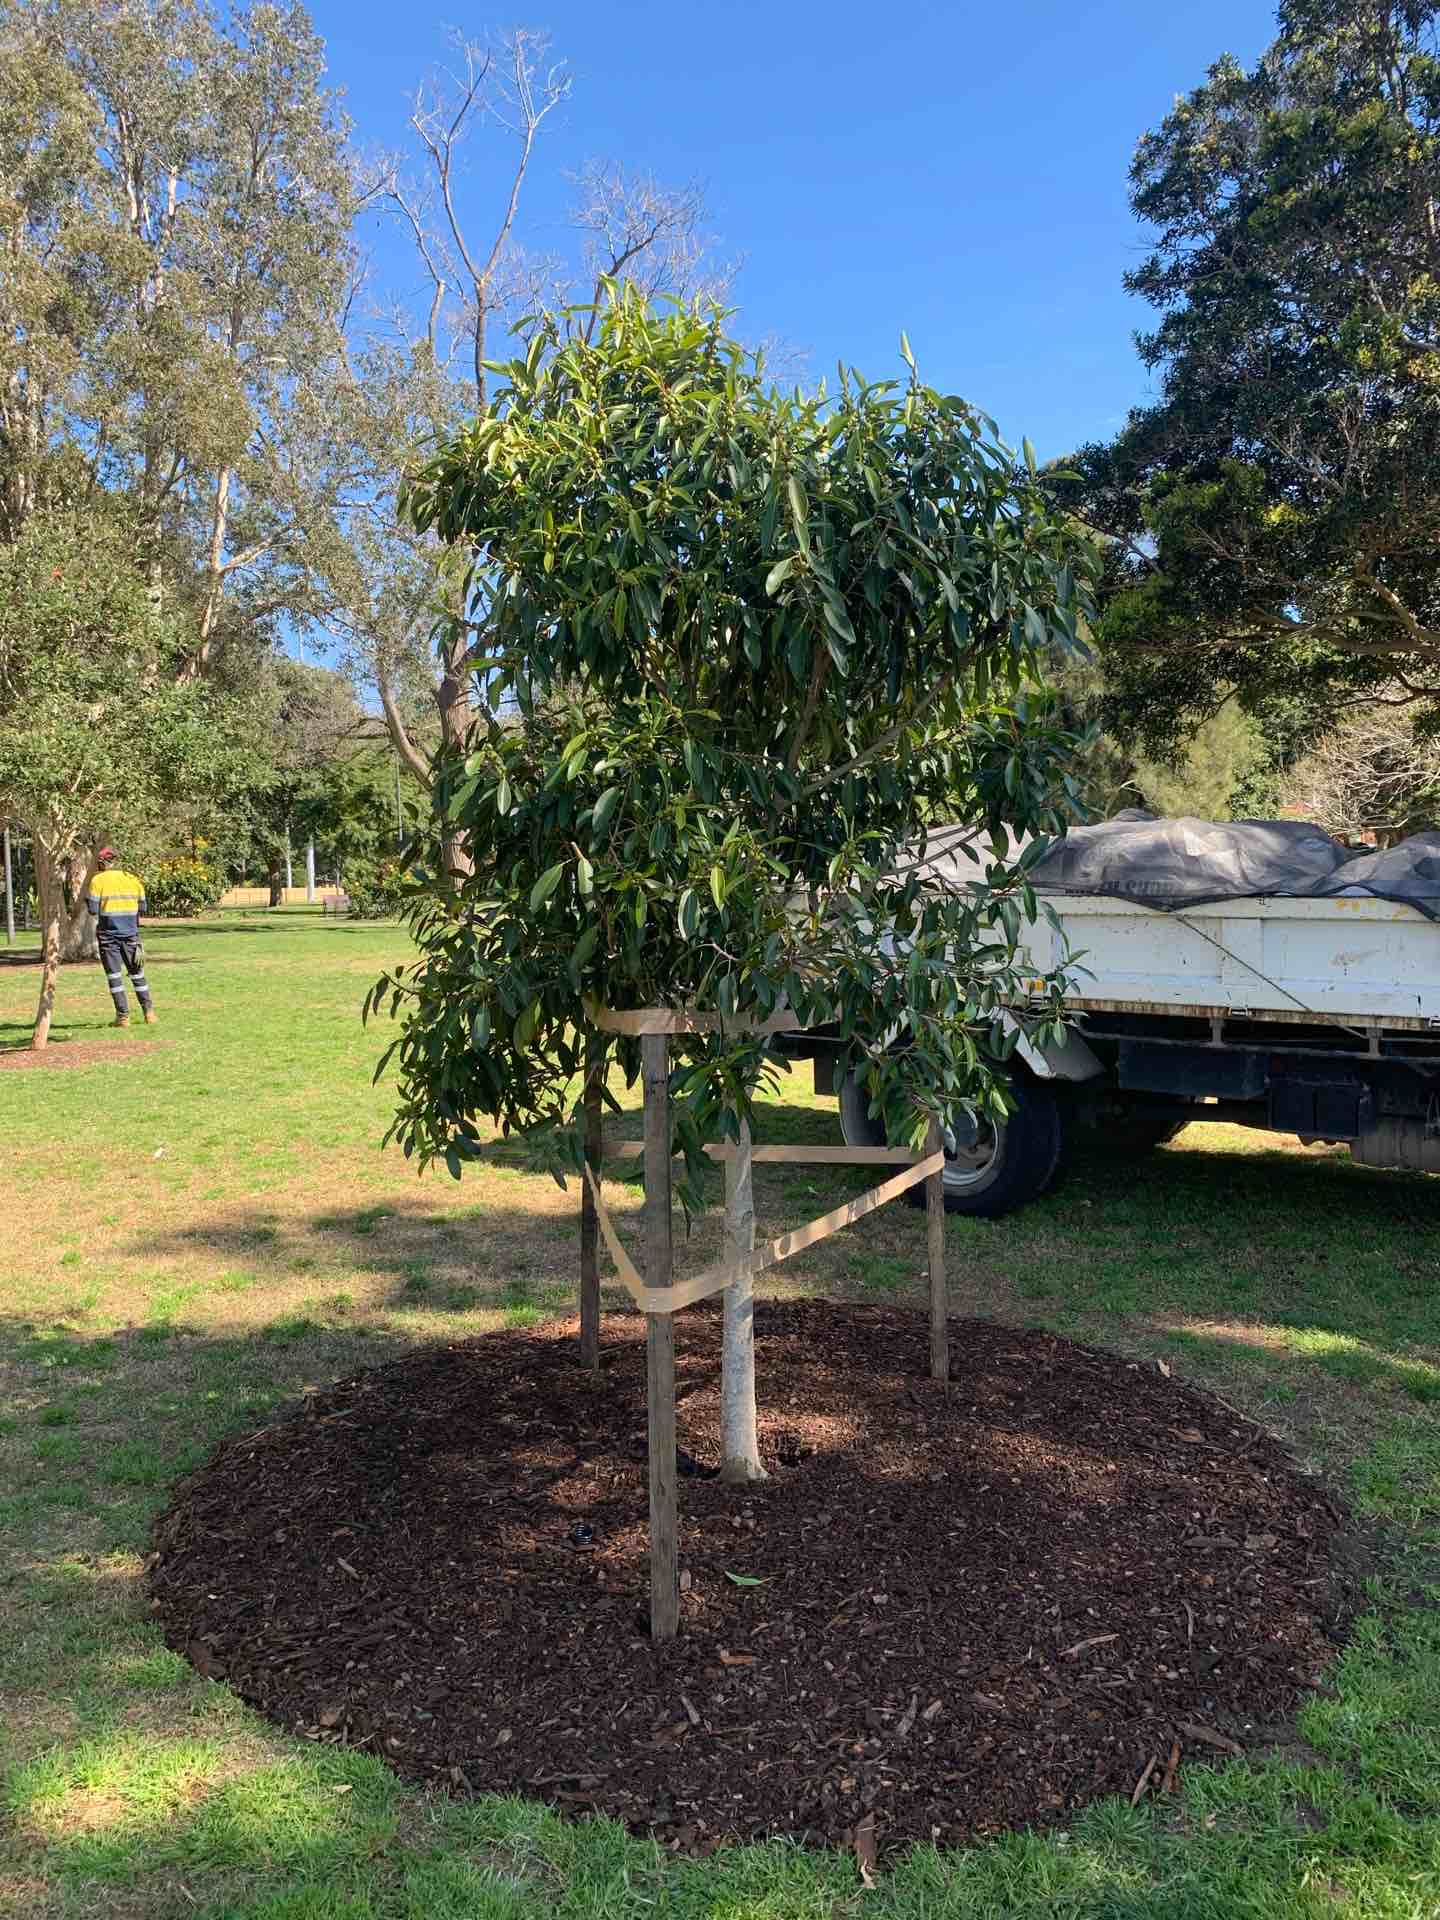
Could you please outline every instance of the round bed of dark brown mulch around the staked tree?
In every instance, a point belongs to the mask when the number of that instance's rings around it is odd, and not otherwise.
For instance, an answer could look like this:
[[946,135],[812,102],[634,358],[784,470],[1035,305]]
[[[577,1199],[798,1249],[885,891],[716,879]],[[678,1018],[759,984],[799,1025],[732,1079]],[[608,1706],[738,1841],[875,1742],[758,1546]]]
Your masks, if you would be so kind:
[[[645,1634],[645,1346],[428,1348],[234,1440],[157,1526],[202,1672],[319,1740],[672,1843],[881,1851],[1162,1791],[1294,1709],[1346,1607],[1342,1515],[1154,1365],[1046,1332],[760,1304],[770,1478],[716,1461],[718,1315],[680,1317],[682,1638]],[[735,1584],[732,1576],[745,1582]]]

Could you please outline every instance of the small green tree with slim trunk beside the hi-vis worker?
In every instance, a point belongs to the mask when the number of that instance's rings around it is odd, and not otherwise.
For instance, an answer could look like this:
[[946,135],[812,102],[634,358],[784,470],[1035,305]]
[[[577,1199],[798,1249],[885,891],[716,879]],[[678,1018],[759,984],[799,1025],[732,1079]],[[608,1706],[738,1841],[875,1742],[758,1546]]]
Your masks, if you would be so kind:
[[102,833],[144,831],[234,778],[238,747],[209,687],[177,668],[192,645],[156,609],[129,528],[33,515],[0,545],[0,812],[19,820],[40,897],[40,1002],[50,1039],[61,960],[61,868],[94,877]]

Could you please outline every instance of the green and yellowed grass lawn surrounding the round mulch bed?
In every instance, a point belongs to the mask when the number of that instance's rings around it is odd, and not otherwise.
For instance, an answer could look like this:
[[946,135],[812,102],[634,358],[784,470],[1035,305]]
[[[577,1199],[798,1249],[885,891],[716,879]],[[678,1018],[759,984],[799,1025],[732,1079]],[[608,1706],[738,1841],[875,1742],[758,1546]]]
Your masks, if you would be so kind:
[[[950,1221],[948,1271],[960,1313],[1215,1388],[1379,1524],[1371,1611],[1283,1749],[1190,1764],[1169,1803],[1110,1801],[1069,1832],[920,1849],[864,1889],[849,1859],[783,1841],[674,1860],[605,1822],[420,1793],[173,1655],[140,1584],[148,1528],[223,1434],[572,1296],[574,1192],[513,1150],[459,1185],[378,1150],[380,1037],[357,1006],[401,941],[303,910],[157,925],[154,1031],[108,1031],[100,970],[69,970],[56,1064],[0,1052],[0,1912],[1440,1914],[1440,1181],[1265,1135],[1190,1127],[1144,1162],[1081,1162],[1014,1219]],[[0,958],[0,1050],[36,985]],[[760,1137],[833,1139],[833,1108],[795,1073]],[[760,1233],[864,1185],[760,1167]],[[612,1194],[634,1227],[636,1181]],[[920,1302],[924,1240],[887,1208],[778,1286]],[[705,1225],[682,1271],[716,1244]]]

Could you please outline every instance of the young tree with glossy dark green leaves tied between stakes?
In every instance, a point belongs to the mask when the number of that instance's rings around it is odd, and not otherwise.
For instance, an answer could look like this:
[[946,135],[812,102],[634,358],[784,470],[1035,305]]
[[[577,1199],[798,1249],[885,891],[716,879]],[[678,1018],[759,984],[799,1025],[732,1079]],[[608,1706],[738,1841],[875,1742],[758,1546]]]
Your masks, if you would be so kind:
[[[914,841],[1060,824],[1068,743],[1021,689],[1073,639],[1085,551],[914,376],[826,403],[768,386],[705,303],[611,290],[572,321],[534,324],[409,499],[472,555],[467,614],[522,724],[442,762],[476,866],[371,996],[403,1012],[394,1137],[459,1175],[493,1121],[574,1165],[589,1000],[718,1016],[676,1043],[691,1183],[751,1119],[781,1006],[833,1025],[897,1139],[1002,1112],[1004,1010],[1035,989],[1023,862],[922,891]],[[1056,981],[1029,1004],[1058,1025]],[[636,1044],[607,1046],[634,1077]]]

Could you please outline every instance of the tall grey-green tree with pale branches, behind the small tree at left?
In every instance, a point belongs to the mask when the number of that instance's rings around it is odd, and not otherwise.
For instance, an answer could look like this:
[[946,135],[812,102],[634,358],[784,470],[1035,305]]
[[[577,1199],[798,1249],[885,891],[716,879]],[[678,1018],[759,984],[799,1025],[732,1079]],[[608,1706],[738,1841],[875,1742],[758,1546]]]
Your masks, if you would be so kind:
[[248,685],[342,538],[313,428],[355,192],[321,42],[298,6],[0,0],[0,541],[113,509],[169,670]]

